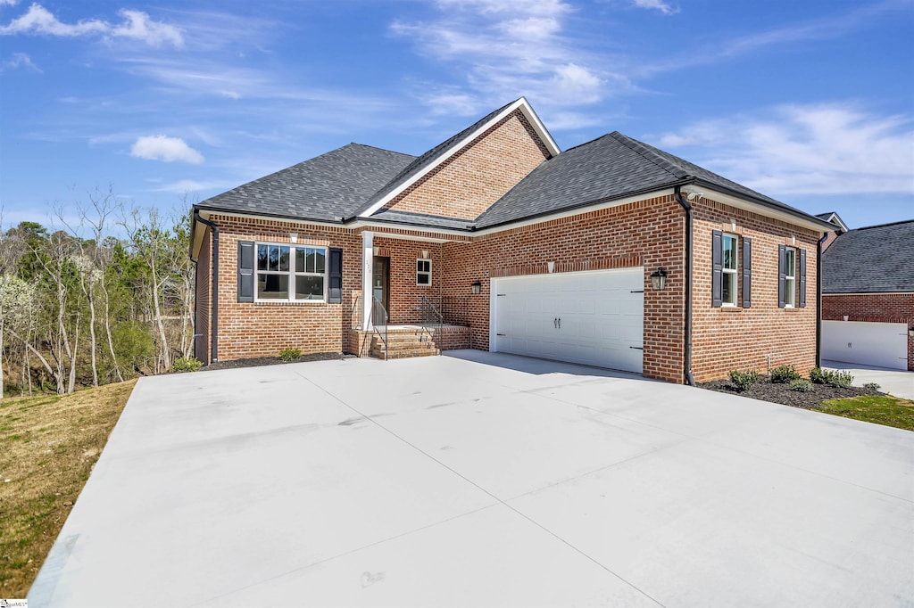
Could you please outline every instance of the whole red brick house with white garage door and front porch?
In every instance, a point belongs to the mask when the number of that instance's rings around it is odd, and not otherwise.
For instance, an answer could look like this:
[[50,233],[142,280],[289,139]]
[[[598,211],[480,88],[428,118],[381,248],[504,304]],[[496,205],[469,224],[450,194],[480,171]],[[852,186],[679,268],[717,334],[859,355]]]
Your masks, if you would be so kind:
[[675,383],[812,368],[834,229],[618,132],[561,152],[523,98],[419,157],[352,143],[194,214],[205,362],[396,354],[428,335],[398,325],[442,321],[443,349]]

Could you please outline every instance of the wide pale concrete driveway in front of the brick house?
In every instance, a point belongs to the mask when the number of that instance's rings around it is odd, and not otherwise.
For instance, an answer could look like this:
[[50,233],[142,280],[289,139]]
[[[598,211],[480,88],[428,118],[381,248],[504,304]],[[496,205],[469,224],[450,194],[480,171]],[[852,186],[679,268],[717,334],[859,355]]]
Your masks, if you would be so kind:
[[483,352],[141,380],[29,606],[911,606],[914,433]]

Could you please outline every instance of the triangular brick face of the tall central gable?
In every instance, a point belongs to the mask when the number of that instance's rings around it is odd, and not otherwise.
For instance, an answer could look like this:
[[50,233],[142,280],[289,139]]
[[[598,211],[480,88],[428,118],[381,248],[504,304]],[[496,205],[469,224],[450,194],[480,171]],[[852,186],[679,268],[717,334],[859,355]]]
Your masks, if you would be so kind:
[[474,219],[548,156],[536,131],[516,110],[385,206]]

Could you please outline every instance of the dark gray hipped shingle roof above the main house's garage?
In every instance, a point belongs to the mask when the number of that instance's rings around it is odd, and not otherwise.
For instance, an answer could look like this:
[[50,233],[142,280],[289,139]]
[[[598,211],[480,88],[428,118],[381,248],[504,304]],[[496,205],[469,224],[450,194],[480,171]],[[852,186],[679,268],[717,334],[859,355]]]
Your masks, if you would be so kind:
[[792,215],[812,217],[692,162],[613,131],[542,162],[480,215],[476,227],[505,224],[650,192],[682,183],[689,177]]

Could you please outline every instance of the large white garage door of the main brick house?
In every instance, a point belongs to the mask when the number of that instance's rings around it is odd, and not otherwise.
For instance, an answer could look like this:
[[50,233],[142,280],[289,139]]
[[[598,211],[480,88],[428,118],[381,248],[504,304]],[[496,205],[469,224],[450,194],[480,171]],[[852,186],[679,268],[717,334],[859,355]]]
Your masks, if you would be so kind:
[[492,279],[489,350],[642,372],[644,269]]

